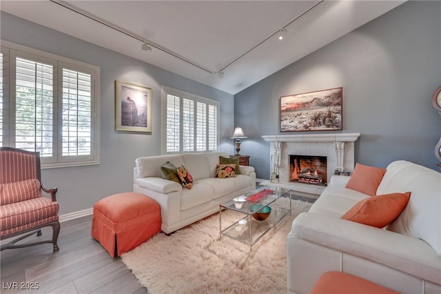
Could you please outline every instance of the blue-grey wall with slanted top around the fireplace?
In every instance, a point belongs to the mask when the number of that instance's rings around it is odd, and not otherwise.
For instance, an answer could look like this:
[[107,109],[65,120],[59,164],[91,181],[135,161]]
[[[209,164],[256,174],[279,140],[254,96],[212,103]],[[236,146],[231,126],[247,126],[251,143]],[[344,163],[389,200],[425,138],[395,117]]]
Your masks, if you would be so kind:
[[235,125],[248,136],[240,153],[251,155],[257,177],[270,174],[262,135],[307,133],[280,133],[280,97],[340,86],[338,133],[361,133],[356,161],[384,168],[404,159],[438,170],[441,115],[431,96],[441,85],[440,15],[440,1],[408,1],[236,94]]

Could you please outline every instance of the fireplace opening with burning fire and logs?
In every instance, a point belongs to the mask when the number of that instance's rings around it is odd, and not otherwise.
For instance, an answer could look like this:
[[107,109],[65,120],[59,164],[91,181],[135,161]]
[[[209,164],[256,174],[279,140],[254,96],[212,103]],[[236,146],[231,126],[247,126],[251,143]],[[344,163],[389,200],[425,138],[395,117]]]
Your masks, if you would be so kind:
[[289,155],[289,180],[327,186],[326,156]]

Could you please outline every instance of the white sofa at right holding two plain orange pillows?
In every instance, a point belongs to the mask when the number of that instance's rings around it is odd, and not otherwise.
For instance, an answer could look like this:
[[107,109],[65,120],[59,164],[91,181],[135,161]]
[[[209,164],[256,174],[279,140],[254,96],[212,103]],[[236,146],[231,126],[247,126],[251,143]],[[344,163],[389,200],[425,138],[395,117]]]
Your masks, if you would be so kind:
[[441,293],[441,174],[393,161],[376,195],[411,191],[402,213],[387,227],[340,219],[368,195],[333,176],[287,236],[288,293],[308,293],[326,271],[364,277],[401,293]]

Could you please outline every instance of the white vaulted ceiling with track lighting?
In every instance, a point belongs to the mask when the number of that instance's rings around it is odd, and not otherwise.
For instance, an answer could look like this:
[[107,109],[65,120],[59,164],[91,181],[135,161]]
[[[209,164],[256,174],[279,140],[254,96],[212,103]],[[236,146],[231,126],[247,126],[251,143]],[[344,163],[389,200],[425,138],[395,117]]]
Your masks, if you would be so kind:
[[0,10],[236,94],[403,2],[2,0]]

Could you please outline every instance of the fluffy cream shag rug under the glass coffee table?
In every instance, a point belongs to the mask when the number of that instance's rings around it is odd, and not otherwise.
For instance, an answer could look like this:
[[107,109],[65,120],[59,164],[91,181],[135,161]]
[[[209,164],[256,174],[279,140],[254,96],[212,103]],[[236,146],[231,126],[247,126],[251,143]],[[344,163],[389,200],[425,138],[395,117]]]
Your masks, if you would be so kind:
[[[280,199],[287,202],[289,199]],[[148,293],[286,293],[286,239],[292,220],[312,204],[292,200],[291,215],[248,245],[223,236],[218,213],[172,235],[158,233],[121,258]],[[227,221],[237,213],[222,213]]]

